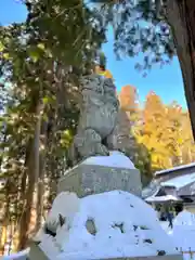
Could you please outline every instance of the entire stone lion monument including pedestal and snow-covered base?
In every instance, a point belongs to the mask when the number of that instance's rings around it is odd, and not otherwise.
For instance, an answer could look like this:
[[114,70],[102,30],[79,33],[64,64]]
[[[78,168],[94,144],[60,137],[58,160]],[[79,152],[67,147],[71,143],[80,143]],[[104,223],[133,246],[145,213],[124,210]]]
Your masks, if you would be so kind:
[[58,181],[29,259],[182,259],[155,211],[140,198],[139,170],[117,151],[118,100],[112,79],[84,77],[81,93],[73,168]]

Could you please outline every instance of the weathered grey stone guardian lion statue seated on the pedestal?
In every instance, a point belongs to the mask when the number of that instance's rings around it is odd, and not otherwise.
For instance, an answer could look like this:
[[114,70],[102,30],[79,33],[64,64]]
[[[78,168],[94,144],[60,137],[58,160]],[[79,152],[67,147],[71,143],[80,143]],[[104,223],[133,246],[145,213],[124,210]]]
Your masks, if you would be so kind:
[[81,80],[82,103],[77,134],[72,146],[72,160],[106,156],[116,148],[116,128],[119,102],[113,80],[100,75]]

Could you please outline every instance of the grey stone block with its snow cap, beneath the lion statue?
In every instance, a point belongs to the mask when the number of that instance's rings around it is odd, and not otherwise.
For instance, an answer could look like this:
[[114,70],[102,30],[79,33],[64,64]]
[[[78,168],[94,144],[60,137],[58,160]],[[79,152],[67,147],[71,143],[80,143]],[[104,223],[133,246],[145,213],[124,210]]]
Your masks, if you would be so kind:
[[119,152],[109,156],[90,157],[65,172],[57,192],[75,192],[79,197],[121,190],[141,196],[140,172],[132,161]]

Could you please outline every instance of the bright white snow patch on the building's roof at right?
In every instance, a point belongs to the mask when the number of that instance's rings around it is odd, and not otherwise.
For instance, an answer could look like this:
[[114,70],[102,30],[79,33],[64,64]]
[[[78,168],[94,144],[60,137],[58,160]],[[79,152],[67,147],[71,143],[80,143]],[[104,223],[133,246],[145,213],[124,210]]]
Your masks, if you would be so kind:
[[190,173],[186,176],[176,177],[169,181],[161,182],[161,186],[174,186],[177,188],[183,187],[187,184],[195,182],[195,173]]

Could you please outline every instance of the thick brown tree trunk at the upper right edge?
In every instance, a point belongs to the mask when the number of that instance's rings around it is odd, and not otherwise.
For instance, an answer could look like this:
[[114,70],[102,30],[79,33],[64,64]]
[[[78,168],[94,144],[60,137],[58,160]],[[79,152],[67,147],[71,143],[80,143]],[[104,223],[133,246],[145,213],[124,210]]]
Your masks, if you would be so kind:
[[167,21],[172,28],[195,139],[195,0],[168,0]]

